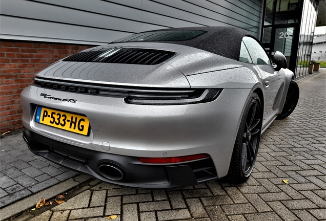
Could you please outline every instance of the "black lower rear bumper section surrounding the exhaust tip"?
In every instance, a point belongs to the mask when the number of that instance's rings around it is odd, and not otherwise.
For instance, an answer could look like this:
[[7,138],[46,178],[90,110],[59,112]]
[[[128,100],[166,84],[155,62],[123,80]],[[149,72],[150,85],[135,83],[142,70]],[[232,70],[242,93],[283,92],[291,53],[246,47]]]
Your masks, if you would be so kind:
[[[141,163],[136,157],[99,152],[52,140],[26,128],[23,137],[34,154],[114,185],[140,189],[173,189],[217,178],[211,158],[153,165]],[[110,173],[106,171],[109,167],[101,167],[100,172],[98,167],[101,165],[116,167],[118,170],[115,172],[121,171],[121,178],[118,181],[112,179],[114,174],[106,177]]]

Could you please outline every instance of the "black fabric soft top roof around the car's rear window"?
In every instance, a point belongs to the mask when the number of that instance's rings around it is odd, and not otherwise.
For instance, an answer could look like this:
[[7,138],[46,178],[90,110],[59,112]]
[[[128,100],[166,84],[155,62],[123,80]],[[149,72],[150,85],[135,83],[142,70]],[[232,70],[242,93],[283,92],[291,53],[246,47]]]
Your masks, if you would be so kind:
[[[150,42],[165,42],[175,43],[177,45],[189,46],[201,50],[205,50],[223,57],[239,60],[241,40],[243,36],[251,36],[248,31],[244,31],[240,28],[233,27],[189,27],[189,28],[171,28],[160,29],[150,32],[170,32],[170,31],[202,31],[197,32],[200,34],[195,35],[193,38],[186,40],[143,40],[139,38],[132,38],[128,36],[126,38],[118,39],[114,42],[132,42],[132,41],[150,41]],[[141,33],[140,33],[141,34]],[[136,34],[137,35],[137,34]],[[139,34],[138,34],[139,35]]]

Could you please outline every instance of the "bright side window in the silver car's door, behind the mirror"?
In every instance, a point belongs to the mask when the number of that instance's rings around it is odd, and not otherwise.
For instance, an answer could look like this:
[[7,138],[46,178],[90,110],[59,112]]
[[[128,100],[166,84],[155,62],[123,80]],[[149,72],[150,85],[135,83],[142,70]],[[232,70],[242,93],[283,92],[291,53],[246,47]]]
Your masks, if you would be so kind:
[[269,65],[271,64],[268,55],[254,38],[244,36],[242,38],[242,41],[244,45],[246,45],[253,63]]

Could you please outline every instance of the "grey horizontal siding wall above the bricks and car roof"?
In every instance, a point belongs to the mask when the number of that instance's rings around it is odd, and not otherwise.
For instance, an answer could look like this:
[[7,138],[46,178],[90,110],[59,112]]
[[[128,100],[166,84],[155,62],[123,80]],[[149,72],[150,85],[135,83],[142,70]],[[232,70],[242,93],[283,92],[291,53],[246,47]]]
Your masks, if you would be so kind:
[[103,44],[162,28],[233,26],[260,35],[262,0],[2,0],[0,38]]

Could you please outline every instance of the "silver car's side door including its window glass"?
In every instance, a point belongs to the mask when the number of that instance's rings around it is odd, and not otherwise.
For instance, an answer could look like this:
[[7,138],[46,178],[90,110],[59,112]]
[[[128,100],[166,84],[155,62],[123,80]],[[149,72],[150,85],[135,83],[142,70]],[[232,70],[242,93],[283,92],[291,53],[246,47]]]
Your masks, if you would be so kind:
[[253,68],[257,71],[264,86],[263,120],[269,121],[276,115],[279,108],[284,87],[283,72],[275,71],[269,56],[256,39],[245,36],[242,38],[242,42],[247,48],[251,61],[255,64]]

